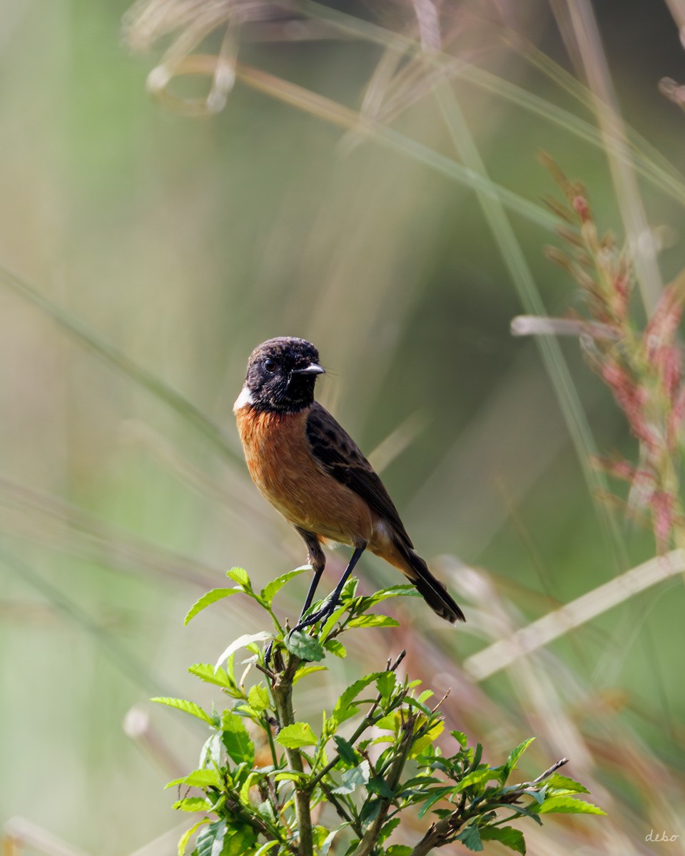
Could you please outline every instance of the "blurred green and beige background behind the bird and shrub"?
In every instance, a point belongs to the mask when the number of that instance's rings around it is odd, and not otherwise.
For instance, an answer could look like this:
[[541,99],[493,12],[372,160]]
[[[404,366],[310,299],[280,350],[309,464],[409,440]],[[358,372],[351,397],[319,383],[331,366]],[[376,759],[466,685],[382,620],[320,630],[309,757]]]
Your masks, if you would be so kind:
[[[545,259],[558,239],[539,149],[625,236],[593,68],[628,123],[642,239],[658,243],[664,282],[682,268],[685,116],[658,92],[685,78],[679,3],[602,0],[593,19],[580,0],[462,0],[437,29],[431,4],[401,0],[279,7],[276,20],[269,3],[242,4],[240,62],[342,105],[338,123],[247,73],[217,115],[178,109],[206,92],[197,75],[159,104],[146,76],[198,4],[152,3],[150,32],[129,18],[127,40],[128,5],[0,3],[0,824],[23,817],[74,853],[175,853],[184,818],[162,788],[192,769],[203,734],[147,699],[210,704],[188,665],[259,616],[231,598],[184,629],[189,605],[233,565],[264,583],[303,559],[249,481],[231,413],[252,348],[295,335],[318,345],[320,400],[382,469],[469,619],[453,629],[391,603],[401,627],[365,631],[301,715],[316,721],[321,698],[330,708],[406,647],[411,675],[452,687],[450,727],[485,740],[491,763],[535,734],[526,773],[568,755],[609,812],[529,829],[529,852],[684,852],[681,579],[484,681],[462,668],[654,554],[651,532],[599,501],[574,440],[581,425],[594,448],[634,455],[610,392],[577,341],[543,353],[509,324],[535,306],[582,309]],[[216,54],[240,6],[207,3],[216,27],[188,50]],[[424,55],[402,56],[397,37]],[[130,50],[143,42],[152,52]],[[376,124],[344,127],[362,107]],[[640,324],[639,299],[634,312]],[[327,586],[344,560],[331,556]],[[360,576],[397,581],[373,557]],[[305,586],[283,590],[283,615]],[[646,841],[652,830],[680,837]],[[21,852],[52,852],[36,843]]]

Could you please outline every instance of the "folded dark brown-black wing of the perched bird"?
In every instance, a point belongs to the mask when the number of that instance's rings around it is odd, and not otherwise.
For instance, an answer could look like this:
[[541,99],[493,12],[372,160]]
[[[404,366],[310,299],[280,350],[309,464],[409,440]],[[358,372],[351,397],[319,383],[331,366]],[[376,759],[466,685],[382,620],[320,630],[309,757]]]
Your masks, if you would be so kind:
[[319,466],[359,494],[376,514],[390,522],[408,547],[413,547],[383,482],[348,432],[317,402],[307,417],[307,439]]

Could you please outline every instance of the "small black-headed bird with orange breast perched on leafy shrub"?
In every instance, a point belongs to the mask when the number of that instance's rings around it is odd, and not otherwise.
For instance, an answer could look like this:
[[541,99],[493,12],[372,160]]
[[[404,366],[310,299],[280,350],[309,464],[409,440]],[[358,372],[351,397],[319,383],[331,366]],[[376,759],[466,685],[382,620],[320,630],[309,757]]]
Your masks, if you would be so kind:
[[[384,484],[348,432],[314,400],[325,369],[311,342],[278,336],[254,348],[233,407],[254,484],[307,545],[313,579],[295,630],[336,609],[364,550],[402,571],[441,618],[466,621],[443,583],[415,552]],[[324,605],[304,617],[325,568],[321,544],[353,548]]]

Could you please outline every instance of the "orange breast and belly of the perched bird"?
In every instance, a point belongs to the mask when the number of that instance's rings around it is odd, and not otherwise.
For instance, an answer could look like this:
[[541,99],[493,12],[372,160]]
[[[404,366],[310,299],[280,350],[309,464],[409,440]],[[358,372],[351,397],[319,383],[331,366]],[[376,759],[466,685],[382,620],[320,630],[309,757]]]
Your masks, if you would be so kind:
[[369,507],[319,467],[307,441],[307,414],[259,413],[249,405],[237,411],[254,484],[294,526],[341,544],[367,542],[372,537]]

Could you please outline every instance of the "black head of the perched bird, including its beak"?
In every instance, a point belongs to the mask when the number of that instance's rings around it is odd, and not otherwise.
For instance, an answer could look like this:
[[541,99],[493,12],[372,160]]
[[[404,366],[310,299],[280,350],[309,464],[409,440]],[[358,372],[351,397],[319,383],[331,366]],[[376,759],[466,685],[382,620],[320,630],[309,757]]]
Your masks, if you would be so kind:
[[319,351],[311,342],[291,336],[269,339],[250,354],[242,403],[259,410],[296,413],[313,402],[314,383],[323,373]]

